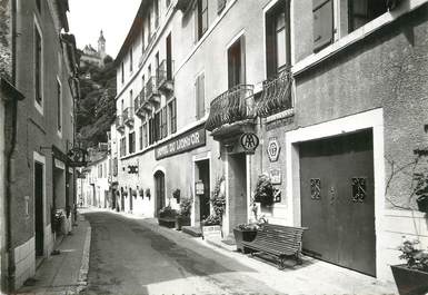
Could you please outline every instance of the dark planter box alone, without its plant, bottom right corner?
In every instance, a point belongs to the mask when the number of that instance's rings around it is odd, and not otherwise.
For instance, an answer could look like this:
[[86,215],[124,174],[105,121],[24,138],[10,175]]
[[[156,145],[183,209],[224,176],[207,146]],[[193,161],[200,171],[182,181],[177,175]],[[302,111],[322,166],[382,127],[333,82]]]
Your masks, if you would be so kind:
[[410,269],[407,265],[391,265],[394,278],[400,295],[428,293],[428,273]]

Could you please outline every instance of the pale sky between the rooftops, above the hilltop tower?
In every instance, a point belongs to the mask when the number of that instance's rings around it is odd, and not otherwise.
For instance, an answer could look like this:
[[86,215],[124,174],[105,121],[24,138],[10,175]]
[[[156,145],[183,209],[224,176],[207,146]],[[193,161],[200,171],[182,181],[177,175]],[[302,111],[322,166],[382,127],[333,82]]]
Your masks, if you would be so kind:
[[118,55],[132,24],[141,0],[69,0],[70,33],[77,47],[98,46],[100,30],[106,38],[106,51],[113,59]]

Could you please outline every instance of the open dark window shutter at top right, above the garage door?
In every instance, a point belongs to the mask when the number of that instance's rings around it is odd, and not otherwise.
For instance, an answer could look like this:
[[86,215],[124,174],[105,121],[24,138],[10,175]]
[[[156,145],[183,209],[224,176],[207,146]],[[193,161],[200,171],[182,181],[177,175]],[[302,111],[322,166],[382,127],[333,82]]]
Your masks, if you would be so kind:
[[312,0],[313,51],[319,51],[332,42],[332,0]]

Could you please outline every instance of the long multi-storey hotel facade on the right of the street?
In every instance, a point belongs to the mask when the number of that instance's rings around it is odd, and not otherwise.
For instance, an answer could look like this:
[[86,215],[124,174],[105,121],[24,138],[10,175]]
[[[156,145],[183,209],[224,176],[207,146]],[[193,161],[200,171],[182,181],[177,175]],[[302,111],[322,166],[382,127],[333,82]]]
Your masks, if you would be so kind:
[[428,243],[411,198],[414,150],[427,141],[427,10],[425,0],[141,1],[116,58],[118,201],[157,216],[178,207],[180,189],[198,226],[225,179],[226,237],[253,217],[265,173],[276,198],[258,215],[308,227],[309,255],[390,279],[402,235]]

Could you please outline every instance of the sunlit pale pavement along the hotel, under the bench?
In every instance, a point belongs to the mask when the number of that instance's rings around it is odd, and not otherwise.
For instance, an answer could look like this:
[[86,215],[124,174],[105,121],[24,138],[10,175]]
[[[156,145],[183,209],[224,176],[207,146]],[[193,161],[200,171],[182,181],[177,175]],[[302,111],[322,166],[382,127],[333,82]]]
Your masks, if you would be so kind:
[[218,263],[229,269],[233,269],[237,263],[245,265],[252,269],[245,275],[266,282],[272,288],[286,294],[398,294],[394,282],[380,282],[370,276],[308,256],[302,257],[302,265],[279,271],[275,262],[259,257],[251,258],[236,252],[233,246],[216,240],[202,240],[200,237],[192,237],[173,228],[161,227],[156,218],[108,212],[136,219],[142,226],[149,227],[178,245],[190,248],[207,258],[215,259],[215,253],[229,257],[226,263],[219,260]]

